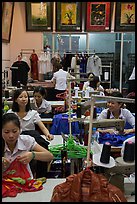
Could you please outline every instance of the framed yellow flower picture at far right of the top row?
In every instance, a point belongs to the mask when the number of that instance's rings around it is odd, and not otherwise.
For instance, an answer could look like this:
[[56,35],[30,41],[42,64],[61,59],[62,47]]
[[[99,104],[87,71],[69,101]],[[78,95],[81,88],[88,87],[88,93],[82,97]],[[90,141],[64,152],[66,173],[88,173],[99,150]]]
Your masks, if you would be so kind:
[[135,2],[116,2],[115,31],[135,31]]

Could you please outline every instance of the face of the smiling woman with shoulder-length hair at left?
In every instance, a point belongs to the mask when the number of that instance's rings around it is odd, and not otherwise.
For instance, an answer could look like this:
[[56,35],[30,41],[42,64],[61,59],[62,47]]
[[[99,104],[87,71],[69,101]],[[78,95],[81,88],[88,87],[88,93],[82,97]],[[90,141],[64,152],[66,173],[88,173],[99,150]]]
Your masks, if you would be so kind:
[[23,91],[18,98],[16,99],[19,107],[25,107],[28,104],[28,94],[26,91]]

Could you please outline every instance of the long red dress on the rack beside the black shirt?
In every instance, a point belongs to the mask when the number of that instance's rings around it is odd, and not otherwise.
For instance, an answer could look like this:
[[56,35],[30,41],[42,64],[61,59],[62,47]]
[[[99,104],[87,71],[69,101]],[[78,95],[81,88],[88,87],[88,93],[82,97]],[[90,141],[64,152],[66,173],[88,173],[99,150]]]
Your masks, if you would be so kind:
[[30,56],[31,64],[31,77],[33,80],[38,80],[38,56],[33,49],[33,53]]

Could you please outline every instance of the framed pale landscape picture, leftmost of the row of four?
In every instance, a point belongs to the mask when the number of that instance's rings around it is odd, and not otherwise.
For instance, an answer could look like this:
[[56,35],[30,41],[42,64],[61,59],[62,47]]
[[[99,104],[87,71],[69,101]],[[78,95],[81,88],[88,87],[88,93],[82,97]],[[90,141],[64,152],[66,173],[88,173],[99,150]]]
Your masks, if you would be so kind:
[[26,31],[52,31],[52,2],[26,2]]

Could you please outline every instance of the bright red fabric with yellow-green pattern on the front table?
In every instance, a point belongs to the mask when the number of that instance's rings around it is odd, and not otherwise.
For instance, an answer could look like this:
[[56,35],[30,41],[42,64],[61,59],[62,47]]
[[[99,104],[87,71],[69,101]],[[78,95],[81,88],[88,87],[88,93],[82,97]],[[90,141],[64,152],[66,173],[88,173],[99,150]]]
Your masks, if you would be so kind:
[[21,192],[43,189],[46,178],[32,179],[26,165],[14,160],[2,175],[2,197],[16,197]]

